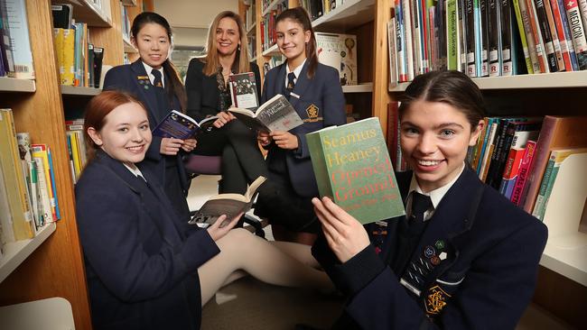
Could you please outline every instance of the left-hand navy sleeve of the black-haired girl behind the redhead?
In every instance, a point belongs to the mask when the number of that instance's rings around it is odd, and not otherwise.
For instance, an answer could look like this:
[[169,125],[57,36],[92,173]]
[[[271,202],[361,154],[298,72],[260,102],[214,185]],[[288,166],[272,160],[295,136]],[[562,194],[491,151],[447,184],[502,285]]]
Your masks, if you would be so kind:
[[[132,73],[130,72],[128,66],[120,66],[113,69],[108,70],[106,73],[106,77],[104,78],[104,90],[121,90],[131,95],[135,96],[136,98],[140,99],[138,96],[138,91],[135,90],[134,82],[130,79],[132,78]],[[144,102],[144,101],[143,101]],[[149,121],[149,124],[154,125]],[[151,127],[153,129],[154,127]],[[147,149],[145,157],[149,160],[159,161],[163,158],[161,154],[161,137],[154,136],[153,140],[151,141],[151,145],[149,145],[149,149]]]

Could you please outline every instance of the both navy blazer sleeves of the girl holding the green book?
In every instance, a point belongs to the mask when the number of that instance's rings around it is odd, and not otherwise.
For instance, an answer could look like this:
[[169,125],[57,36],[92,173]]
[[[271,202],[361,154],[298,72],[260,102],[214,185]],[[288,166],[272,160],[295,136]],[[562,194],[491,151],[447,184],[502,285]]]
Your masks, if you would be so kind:
[[344,264],[330,261],[325,269],[349,295],[345,311],[365,329],[513,329],[534,293],[545,242],[545,226],[536,224],[496,243],[471,264],[434,323],[369,247]]

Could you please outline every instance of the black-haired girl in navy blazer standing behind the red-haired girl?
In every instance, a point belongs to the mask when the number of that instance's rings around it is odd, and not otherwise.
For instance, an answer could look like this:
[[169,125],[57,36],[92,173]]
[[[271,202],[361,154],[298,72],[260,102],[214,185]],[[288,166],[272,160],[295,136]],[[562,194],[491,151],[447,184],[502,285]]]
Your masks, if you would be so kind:
[[[104,89],[126,91],[141,100],[148,110],[149,124],[154,128],[172,109],[184,111],[185,91],[172,62],[168,60],[172,29],[159,14],[138,14],[131,27],[131,41],[140,59],[133,64],[110,69]],[[180,213],[189,213],[185,196],[189,188],[182,164],[182,152],[196,146],[195,139],[154,137],[147,151],[145,166],[163,183],[172,205]]]

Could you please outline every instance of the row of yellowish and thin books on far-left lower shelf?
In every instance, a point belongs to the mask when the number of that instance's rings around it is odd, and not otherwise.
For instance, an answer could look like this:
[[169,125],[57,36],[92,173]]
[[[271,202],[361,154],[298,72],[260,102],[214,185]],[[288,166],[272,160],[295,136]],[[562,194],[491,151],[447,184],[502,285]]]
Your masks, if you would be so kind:
[[1,251],[6,243],[33,238],[61,214],[51,148],[16,133],[11,109],[0,109],[0,140]]

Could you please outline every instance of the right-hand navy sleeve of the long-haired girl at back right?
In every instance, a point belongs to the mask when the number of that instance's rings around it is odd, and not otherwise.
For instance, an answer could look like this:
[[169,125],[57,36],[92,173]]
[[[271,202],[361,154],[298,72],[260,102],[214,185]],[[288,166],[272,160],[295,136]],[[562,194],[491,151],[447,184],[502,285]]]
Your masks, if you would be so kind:
[[[322,127],[345,124],[347,120],[344,112],[345,99],[340,86],[339,73],[336,69],[330,67],[319,72],[324,75],[321,88],[322,106],[324,107],[322,111]],[[298,138],[298,149],[293,151],[294,157],[297,159],[309,158],[310,150],[308,149],[306,134],[297,133],[296,136]]]

